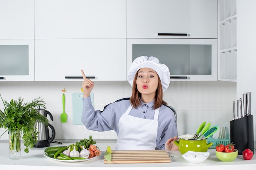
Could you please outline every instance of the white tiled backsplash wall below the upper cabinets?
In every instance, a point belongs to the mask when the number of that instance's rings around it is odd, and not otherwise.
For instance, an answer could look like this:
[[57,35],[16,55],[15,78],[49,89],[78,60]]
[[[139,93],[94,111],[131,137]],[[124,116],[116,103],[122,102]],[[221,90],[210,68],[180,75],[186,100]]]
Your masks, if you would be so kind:
[[[83,125],[73,124],[72,93],[81,93],[82,82],[0,82],[0,93],[4,100],[24,98],[30,102],[41,97],[52,113],[54,120],[49,121],[56,131],[54,141],[65,139],[116,139],[114,131],[95,132]],[[132,88],[126,81],[97,82],[94,93],[94,107],[103,110],[104,106],[124,97],[130,97]],[[65,113],[68,121],[61,123],[62,88],[65,87]],[[223,81],[173,81],[164,92],[164,100],[177,112],[178,135],[195,133],[203,122],[211,125],[224,125],[233,119],[232,101],[236,100],[236,82]],[[0,101],[0,108],[4,106]],[[0,129],[0,135],[5,129]],[[0,140],[7,140],[6,132]]]

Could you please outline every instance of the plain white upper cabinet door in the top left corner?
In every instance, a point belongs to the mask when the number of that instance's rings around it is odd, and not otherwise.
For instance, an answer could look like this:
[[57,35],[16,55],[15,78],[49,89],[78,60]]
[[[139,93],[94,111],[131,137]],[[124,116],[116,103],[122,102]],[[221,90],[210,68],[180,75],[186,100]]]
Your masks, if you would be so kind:
[[0,0],[0,39],[34,38],[34,0]]

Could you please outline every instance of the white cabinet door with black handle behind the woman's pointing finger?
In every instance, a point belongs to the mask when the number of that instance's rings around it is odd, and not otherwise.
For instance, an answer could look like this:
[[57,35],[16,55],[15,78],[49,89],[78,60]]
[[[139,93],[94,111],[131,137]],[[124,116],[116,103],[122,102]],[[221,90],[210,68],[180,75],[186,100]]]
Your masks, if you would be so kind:
[[125,81],[126,39],[35,40],[36,81],[82,81],[81,69],[94,81]]

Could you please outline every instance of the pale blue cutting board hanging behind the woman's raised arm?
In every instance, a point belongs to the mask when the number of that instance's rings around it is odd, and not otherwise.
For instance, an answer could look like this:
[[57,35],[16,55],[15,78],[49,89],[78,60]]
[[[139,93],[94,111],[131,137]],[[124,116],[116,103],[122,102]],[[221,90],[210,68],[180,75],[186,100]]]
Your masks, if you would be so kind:
[[[94,94],[90,93],[92,106],[94,107]],[[83,93],[72,93],[73,124],[82,125]]]

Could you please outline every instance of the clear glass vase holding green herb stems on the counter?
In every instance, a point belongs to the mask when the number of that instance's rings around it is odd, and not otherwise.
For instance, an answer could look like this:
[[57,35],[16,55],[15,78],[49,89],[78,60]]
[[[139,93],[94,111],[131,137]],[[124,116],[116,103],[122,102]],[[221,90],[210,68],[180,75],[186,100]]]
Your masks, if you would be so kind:
[[21,158],[21,130],[9,131],[9,159]]

